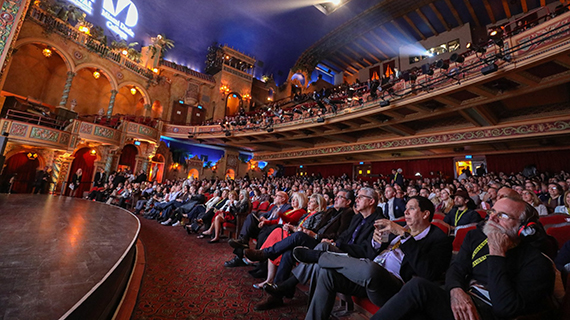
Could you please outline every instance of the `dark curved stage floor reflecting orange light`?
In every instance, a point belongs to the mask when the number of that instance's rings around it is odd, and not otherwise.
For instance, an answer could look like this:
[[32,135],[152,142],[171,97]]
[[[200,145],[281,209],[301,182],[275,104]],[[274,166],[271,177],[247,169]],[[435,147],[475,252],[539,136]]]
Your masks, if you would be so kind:
[[134,215],[31,194],[2,194],[0,208],[0,319],[113,315],[133,267]]

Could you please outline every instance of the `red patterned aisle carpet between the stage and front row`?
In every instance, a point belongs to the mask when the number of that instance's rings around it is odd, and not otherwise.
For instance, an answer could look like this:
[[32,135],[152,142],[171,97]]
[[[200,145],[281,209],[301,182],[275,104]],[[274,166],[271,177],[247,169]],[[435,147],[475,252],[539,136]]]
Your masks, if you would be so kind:
[[265,298],[254,289],[251,267],[225,268],[232,249],[209,244],[181,227],[141,218],[146,268],[132,319],[303,319],[307,296],[297,290],[285,306],[257,312]]

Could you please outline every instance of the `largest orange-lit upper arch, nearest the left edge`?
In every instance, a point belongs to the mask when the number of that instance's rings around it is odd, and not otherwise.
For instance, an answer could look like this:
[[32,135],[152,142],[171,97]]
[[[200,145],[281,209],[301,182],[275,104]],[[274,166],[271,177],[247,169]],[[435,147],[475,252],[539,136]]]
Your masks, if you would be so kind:
[[65,62],[54,48],[25,44],[15,51],[2,90],[57,106],[67,72]]

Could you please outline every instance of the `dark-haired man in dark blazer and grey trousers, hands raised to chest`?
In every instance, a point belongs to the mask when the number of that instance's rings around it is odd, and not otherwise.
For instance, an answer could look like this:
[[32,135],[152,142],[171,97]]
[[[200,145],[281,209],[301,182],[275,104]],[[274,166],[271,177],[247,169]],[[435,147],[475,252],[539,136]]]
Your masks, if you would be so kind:
[[[337,292],[368,297],[382,306],[412,277],[442,279],[452,246],[450,238],[431,225],[434,211],[431,201],[415,196],[406,204],[406,227],[386,219],[375,221],[372,246],[381,253],[373,260],[296,248],[298,260],[320,266],[305,319],[328,319]],[[384,243],[383,233],[389,233]]]

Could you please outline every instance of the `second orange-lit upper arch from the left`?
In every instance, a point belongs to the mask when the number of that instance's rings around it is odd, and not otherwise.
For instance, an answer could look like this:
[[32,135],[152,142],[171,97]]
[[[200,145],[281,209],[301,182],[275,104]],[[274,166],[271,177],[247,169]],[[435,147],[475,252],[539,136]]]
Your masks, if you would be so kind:
[[[75,100],[73,111],[80,115],[107,113],[111,100],[111,83],[101,69],[86,67],[78,70],[71,84],[68,104]],[[113,110],[113,114],[115,114]]]

